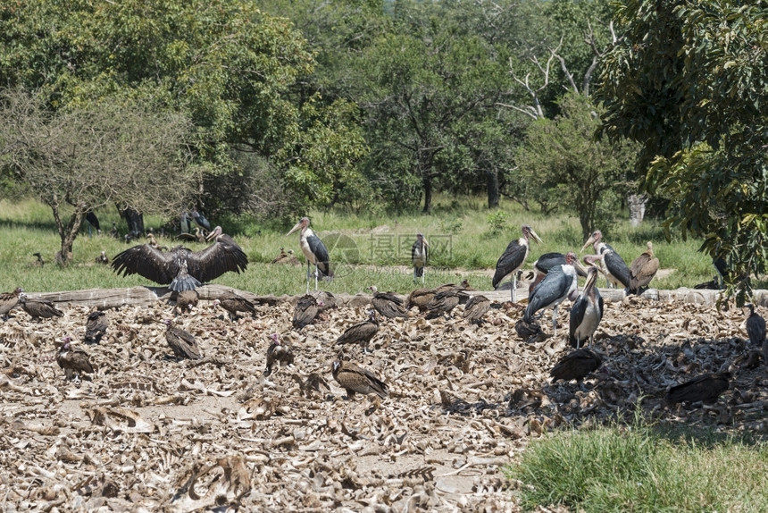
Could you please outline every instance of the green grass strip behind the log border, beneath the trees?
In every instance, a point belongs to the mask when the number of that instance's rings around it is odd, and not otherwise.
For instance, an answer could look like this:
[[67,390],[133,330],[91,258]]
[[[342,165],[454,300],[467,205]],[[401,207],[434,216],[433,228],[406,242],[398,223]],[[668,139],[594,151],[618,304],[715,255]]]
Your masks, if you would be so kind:
[[[0,265],[4,269],[4,273],[0,273],[0,290],[12,290],[16,286],[31,291],[53,291],[151,284],[137,276],[118,277],[108,268],[93,263],[102,249],[112,257],[127,247],[122,240],[106,235],[113,221],[122,233],[126,231],[117,212],[104,209],[97,214],[104,233],[88,237],[86,224],[75,240],[72,265],[59,269],[53,261],[61,242],[50,210],[34,200],[16,203],[0,200]],[[432,215],[418,212],[386,215],[375,210],[357,215],[338,211],[307,214],[313,230],[330,247],[331,261],[339,264],[337,280],[321,285],[333,292],[355,293],[374,283],[380,290],[412,290],[410,247],[417,231],[424,233],[432,249],[428,286],[467,278],[480,290],[490,288],[488,270],[496,266],[498,256],[509,241],[521,236],[523,223],[533,226],[544,240],[541,245],[532,245],[529,268],[543,253],[578,251],[583,243],[578,220],[573,217],[527,213],[510,202],[499,211],[488,212],[483,198],[438,197]],[[147,227],[157,227],[162,220],[150,216],[145,223]],[[269,265],[281,247],[292,248],[300,254],[296,233],[286,237],[292,223],[281,226],[276,220],[257,223],[243,217],[227,220],[222,225],[238,240],[251,264],[246,273],[224,274],[217,283],[257,293],[296,294],[304,290],[304,270]],[[631,228],[628,222],[617,223],[606,228],[605,240],[628,264],[645,250],[646,240],[653,240],[662,267],[674,269],[669,276],[655,279],[652,284],[657,288],[693,286],[714,275],[710,259],[697,252],[699,240],[667,242],[663,231],[652,222],[639,229]],[[168,246],[178,243],[171,239],[159,241]],[[131,244],[135,243],[138,242]],[[195,244],[189,246],[203,248]],[[34,260],[32,253],[37,251],[49,262],[43,269],[29,267]]]

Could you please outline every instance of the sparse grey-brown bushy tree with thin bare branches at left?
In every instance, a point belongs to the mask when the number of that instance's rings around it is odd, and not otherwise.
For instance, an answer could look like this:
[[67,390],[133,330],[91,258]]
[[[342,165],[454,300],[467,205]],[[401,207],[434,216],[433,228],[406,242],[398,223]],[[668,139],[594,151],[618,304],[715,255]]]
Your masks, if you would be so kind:
[[174,214],[199,186],[183,116],[118,105],[51,113],[44,102],[20,89],[0,96],[0,164],[51,207],[63,265],[88,211],[119,204]]

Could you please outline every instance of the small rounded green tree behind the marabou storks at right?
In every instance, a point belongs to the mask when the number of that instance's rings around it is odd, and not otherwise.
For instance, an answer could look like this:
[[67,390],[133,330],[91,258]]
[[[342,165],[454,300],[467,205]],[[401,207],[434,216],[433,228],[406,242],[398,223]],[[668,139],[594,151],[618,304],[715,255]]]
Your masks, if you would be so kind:
[[626,187],[635,158],[634,145],[594,138],[597,110],[587,97],[565,95],[561,114],[530,125],[517,156],[527,196],[544,212],[574,210],[584,239],[595,230],[600,212],[618,207],[618,197],[605,193]]

